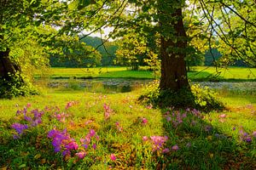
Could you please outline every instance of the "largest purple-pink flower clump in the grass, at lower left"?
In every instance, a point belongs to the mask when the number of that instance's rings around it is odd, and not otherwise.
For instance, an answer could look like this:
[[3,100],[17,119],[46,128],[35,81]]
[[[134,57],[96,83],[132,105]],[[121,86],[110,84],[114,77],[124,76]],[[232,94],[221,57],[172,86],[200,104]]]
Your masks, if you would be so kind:
[[62,132],[55,128],[50,130],[48,138],[52,139],[52,144],[55,147],[55,152],[62,151],[63,156],[70,156],[72,150],[78,150],[79,144],[67,133],[67,129]]

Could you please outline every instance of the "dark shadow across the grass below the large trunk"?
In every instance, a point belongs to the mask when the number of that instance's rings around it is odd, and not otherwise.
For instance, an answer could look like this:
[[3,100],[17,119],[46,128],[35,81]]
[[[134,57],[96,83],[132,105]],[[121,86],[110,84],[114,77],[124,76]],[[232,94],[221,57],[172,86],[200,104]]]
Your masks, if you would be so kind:
[[[239,144],[207,123],[200,111],[163,114],[171,152],[160,158],[158,169],[256,169],[253,144]],[[175,144],[178,150],[172,150]]]

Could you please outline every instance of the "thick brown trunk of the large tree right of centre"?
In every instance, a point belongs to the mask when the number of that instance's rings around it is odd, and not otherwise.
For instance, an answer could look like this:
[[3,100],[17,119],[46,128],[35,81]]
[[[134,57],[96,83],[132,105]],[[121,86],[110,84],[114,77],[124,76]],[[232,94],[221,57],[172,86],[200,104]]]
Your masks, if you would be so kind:
[[[184,60],[187,41],[183,26],[182,9],[177,8],[172,14],[172,18],[176,19],[171,22],[174,31],[172,35],[175,39],[164,36],[160,37],[160,89],[177,91],[181,88],[189,88],[186,63]],[[160,20],[160,26],[170,26],[170,23]]]

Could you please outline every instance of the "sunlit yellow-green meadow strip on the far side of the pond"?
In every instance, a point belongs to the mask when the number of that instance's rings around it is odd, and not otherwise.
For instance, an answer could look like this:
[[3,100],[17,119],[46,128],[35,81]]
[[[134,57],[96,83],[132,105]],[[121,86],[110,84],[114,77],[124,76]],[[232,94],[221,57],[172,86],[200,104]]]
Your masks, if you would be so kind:
[[[217,76],[215,67],[196,66],[189,71],[189,78],[193,81],[204,81],[210,78],[218,78],[226,81],[255,81],[256,69],[231,67],[220,70]],[[103,68],[50,68],[46,74],[50,78],[69,77],[99,77],[99,78],[154,78],[152,71],[130,71],[126,67]],[[35,77],[41,77],[35,74]]]

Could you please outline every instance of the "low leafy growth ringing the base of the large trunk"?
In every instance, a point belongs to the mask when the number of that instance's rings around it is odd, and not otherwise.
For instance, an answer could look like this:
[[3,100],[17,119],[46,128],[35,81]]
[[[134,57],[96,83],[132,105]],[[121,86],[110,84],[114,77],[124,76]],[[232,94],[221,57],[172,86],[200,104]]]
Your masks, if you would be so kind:
[[177,109],[195,108],[201,111],[224,109],[224,104],[218,99],[212,89],[201,88],[199,84],[182,88],[179,91],[160,90],[159,82],[150,83],[143,89],[143,95],[138,99],[143,105],[154,107],[175,107]]

